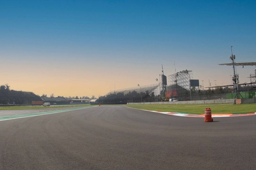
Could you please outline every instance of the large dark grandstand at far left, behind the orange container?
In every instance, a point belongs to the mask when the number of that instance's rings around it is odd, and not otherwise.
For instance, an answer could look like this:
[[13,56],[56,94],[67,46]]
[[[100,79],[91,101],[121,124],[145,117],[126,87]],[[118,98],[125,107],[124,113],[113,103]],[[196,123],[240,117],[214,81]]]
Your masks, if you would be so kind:
[[0,104],[31,104],[31,101],[42,101],[40,96],[33,92],[22,92],[15,90],[0,89]]

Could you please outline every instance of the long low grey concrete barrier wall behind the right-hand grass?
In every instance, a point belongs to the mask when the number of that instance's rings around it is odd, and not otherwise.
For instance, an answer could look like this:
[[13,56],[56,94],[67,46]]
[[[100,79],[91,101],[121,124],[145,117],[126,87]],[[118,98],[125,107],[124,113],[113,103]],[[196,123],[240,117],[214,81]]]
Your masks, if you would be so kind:
[[[221,103],[234,103],[234,101],[235,99],[221,99],[221,100],[192,100],[192,101],[161,101],[161,102],[144,102],[144,103],[127,103],[127,104],[128,105],[214,104],[214,103],[221,104]],[[253,99],[253,101],[254,103],[256,103],[256,99]],[[252,100],[250,100],[250,102],[252,102]]]

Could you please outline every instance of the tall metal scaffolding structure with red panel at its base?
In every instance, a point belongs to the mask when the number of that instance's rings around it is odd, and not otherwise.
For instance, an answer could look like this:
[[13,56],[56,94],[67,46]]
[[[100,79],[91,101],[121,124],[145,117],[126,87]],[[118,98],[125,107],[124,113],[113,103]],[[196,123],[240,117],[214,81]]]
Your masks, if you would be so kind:
[[178,100],[190,100],[190,79],[193,79],[191,70],[182,70],[169,75],[167,96]]

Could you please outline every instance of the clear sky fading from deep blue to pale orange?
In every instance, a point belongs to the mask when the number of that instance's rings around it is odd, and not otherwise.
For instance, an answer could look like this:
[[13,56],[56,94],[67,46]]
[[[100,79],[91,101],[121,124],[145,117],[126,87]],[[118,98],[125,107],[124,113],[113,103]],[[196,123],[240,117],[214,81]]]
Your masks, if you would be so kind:
[[[105,95],[161,74],[230,84],[256,61],[256,1],[0,1],[0,84],[55,96]],[[240,83],[254,66],[237,67]]]

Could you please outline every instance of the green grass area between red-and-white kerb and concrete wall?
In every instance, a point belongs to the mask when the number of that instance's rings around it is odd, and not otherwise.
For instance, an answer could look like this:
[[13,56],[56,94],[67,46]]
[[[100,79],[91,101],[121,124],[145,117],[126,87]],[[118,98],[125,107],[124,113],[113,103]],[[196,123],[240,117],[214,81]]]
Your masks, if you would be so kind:
[[256,103],[251,104],[177,104],[177,105],[125,105],[128,107],[162,112],[183,112],[204,114],[204,109],[210,107],[212,113],[255,113]]

